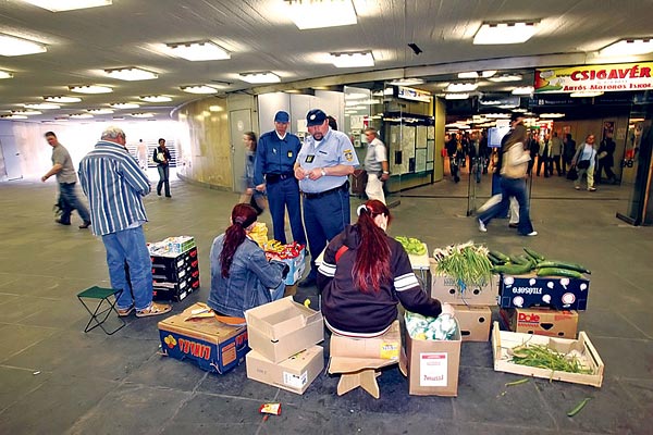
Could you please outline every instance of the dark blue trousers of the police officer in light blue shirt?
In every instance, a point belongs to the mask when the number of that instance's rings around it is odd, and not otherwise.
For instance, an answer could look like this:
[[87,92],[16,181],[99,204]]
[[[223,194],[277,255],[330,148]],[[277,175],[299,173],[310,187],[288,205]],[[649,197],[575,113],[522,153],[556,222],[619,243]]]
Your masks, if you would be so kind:
[[342,189],[320,198],[304,198],[304,223],[310,248],[310,273],[317,273],[316,259],[326,243],[345,229],[350,222],[349,192]]

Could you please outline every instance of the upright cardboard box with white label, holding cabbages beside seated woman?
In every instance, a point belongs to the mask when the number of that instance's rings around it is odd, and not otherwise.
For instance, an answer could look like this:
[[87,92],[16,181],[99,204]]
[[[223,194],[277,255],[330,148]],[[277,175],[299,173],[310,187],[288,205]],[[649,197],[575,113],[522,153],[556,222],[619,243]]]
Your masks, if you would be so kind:
[[457,323],[453,340],[420,340],[406,334],[408,394],[458,396],[461,337]]

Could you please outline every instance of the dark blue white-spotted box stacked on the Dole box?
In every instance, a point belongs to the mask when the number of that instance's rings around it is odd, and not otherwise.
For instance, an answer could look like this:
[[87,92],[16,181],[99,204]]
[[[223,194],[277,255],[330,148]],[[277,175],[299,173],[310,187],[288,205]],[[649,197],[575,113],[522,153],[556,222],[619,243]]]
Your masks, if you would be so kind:
[[589,290],[584,278],[502,275],[500,316],[512,332],[576,338]]

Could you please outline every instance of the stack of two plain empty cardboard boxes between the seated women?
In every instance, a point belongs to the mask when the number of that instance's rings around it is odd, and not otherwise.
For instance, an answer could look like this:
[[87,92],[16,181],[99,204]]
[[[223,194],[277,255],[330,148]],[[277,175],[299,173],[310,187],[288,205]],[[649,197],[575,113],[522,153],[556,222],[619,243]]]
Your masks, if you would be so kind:
[[247,377],[304,394],[324,369],[322,314],[286,297],[245,311]]

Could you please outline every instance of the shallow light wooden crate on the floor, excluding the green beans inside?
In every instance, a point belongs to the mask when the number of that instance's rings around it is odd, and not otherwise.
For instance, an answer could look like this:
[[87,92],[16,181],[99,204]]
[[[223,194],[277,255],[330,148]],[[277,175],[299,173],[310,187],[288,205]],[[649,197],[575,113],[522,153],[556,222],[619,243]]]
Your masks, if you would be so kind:
[[[521,346],[525,343],[547,346],[560,353],[576,350],[587,360],[591,374],[568,373],[547,369],[532,368],[509,362],[508,349]],[[601,387],[605,365],[584,332],[578,334],[578,339],[546,337],[542,335],[512,333],[500,331],[498,322],[492,328],[492,352],[494,353],[494,370],[497,372],[515,373],[525,376],[543,377],[545,380],[570,382],[574,384]]]

